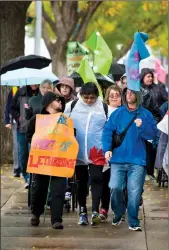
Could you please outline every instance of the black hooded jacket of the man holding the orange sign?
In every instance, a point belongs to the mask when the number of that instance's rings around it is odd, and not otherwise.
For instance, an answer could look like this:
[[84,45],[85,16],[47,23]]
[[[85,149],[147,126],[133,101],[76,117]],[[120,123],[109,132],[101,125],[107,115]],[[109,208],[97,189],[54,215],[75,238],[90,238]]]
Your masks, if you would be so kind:
[[[61,96],[58,96],[56,95],[55,93],[53,92],[47,92],[43,98],[42,98],[42,109],[41,109],[41,114],[43,115],[50,115],[47,111],[46,111],[46,106],[48,104],[50,104],[52,101],[56,100],[56,99],[59,99],[61,100],[61,103],[62,103],[62,111],[61,112],[64,112],[64,109],[65,109],[65,99],[64,97],[61,97]],[[27,130],[26,130],[26,139],[29,143],[31,143],[32,141],[32,136],[34,135],[35,133],[35,126],[36,126],[36,115],[33,116],[29,123],[28,123],[28,126],[27,126]]]

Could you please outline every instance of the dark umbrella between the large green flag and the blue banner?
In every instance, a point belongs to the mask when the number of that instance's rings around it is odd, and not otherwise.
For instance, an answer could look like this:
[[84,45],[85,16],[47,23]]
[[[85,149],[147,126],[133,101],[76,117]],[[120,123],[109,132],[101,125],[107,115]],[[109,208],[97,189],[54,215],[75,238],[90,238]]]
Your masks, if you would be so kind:
[[119,81],[122,75],[125,74],[125,72],[125,65],[119,63],[113,63],[109,70],[109,74],[112,75],[115,81]]

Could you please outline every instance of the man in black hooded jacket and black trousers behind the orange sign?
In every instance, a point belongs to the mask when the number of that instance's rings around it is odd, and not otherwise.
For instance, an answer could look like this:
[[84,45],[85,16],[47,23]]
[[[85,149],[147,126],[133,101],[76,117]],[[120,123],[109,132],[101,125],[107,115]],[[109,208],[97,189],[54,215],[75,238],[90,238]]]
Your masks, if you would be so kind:
[[[65,100],[53,92],[47,92],[42,99],[41,114],[50,115],[63,112],[65,108]],[[26,138],[31,143],[32,136],[35,133],[36,116],[30,119]],[[31,225],[38,226],[39,217],[44,212],[44,205],[47,197],[49,176],[34,174],[34,186],[32,188],[32,218]],[[63,229],[62,214],[64,205],[64,195],[66,188],[66,179],[63,177],[53,177],[51,179],[51,223],[54,229]]]

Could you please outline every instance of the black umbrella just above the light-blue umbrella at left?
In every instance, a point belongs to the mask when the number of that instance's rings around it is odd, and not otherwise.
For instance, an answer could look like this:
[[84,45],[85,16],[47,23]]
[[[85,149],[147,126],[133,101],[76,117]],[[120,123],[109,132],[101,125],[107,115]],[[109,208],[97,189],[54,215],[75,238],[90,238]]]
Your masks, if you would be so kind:
[[0,75],[6,73],[7,71],[21,68],[43,69],[49,66],[51,62],[51,59],[43,56],[19,56],[17,58],[9,60],[9,62],[1,68]]

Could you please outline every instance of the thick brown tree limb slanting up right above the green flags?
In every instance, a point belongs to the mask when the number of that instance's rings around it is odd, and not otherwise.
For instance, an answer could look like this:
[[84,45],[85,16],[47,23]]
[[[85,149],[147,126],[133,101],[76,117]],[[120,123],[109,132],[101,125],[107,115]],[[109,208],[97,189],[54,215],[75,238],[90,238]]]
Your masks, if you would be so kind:
[[72,37],[72,40],[79,42],[82,42],[84,40],[87,25],[102,2],[103,1],[89,1],[88,9],[84,12],[82,16],[81,25],[79,26],[78,32],[75,34],[74,37]]

